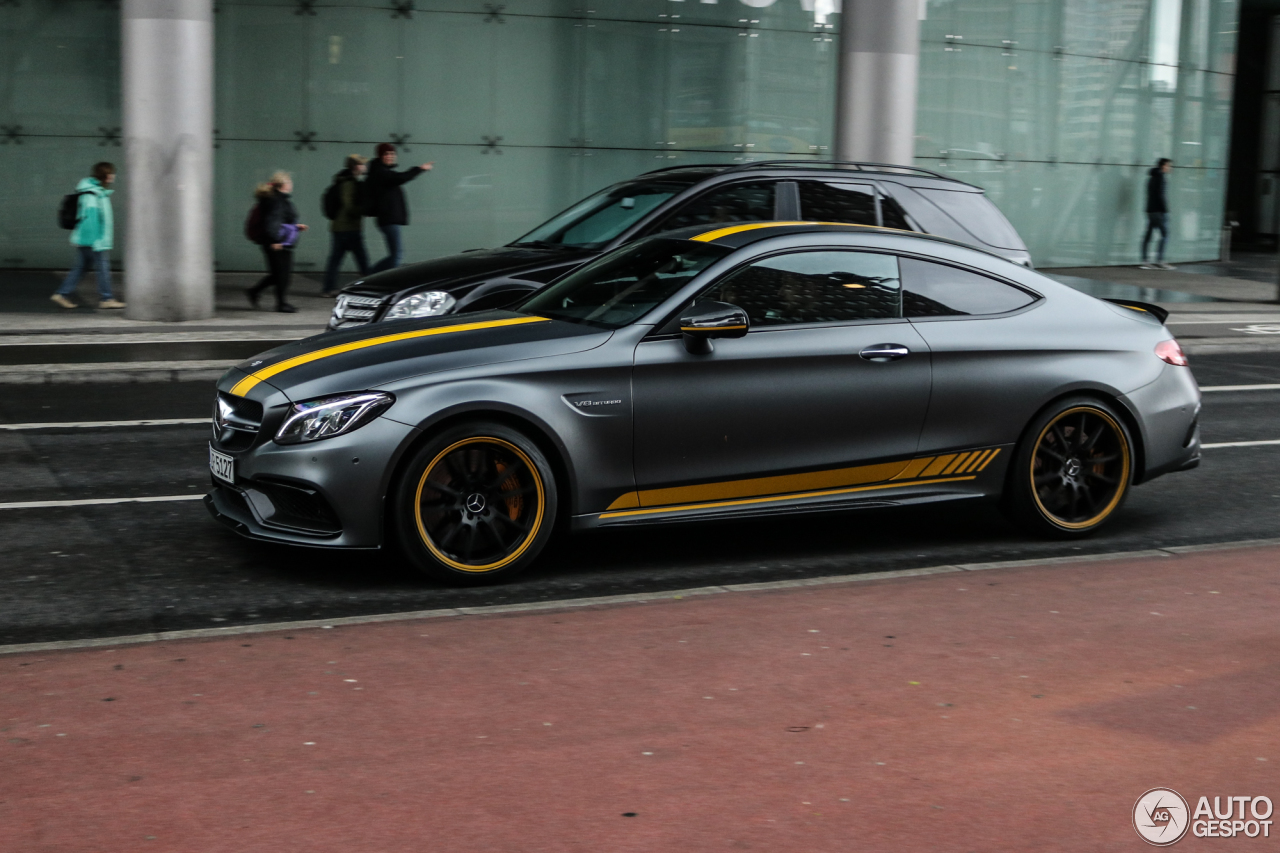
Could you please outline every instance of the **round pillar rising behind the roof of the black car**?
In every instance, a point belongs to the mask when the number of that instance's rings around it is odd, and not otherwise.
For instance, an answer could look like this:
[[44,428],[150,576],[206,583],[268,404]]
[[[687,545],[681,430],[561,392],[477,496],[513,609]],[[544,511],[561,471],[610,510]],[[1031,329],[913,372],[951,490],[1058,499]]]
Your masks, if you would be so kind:
[[836,156],[910,165],[922,0],[845,0],[840,18]]

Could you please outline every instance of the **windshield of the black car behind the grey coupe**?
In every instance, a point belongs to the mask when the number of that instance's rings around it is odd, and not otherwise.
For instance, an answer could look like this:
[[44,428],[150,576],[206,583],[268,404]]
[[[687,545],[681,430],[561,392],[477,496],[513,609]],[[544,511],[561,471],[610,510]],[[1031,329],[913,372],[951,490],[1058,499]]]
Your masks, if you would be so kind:
[[512,246],[599,248],[689,186],[690,183],[666,179],[609,187],[544,222]]

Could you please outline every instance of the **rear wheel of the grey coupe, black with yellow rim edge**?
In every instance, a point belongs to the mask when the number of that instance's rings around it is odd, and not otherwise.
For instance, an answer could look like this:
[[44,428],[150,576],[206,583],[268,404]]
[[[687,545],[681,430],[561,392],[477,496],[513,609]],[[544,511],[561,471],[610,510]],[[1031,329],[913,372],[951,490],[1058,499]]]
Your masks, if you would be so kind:
[[1059,401],[1023,433],[1002,508],[1041,537],[1087,537],[1129,496],[1133,460],[1133,438],[1111,406],[1092,397]]

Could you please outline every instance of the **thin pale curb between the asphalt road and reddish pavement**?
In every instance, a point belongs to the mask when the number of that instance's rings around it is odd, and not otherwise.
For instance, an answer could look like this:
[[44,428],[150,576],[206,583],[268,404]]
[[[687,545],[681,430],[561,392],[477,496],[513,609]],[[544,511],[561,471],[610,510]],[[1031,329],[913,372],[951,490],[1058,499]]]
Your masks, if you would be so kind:
[[835,575],[827,578],[801,578],[799,580],[769,580],[758,584],[724,584],[723,587],[695,587],[692,589],[672,589],[653,593],[632,593],[623,596],[596,596],[593,598],[564,598],[559,601],[539,601],[525,605],[489,605],[484,607],[447,607],[442,610],[416,610],[403,613],[375,613],[370,616],[340,616],[337,619],[307,619],[291,622],[262,622],[260,625],[229,625],[227,628],[196,628],[182,631],[156,631],[154,634],[131,634],[127,637],[102,637],[81,640],[55,640],[50,643],[14,643],[0,646],[0,654],[20,654],[23,652],[58,652],[79,648],[105,648],[110,646],[137,646],[141,643],[164,643],[180,639],[216,639],[219,637],[239,637],[243,634],[268,634],[271,631],[306,630],[319,628],[329,630],[344,625],[372,625],[378,622],[402,622],[419,619],[445,619],[462,616],[494,616],[504,613],[527,613],[539,611],[571,610],[575,607],[608,607],[616,605],[645,605],[657,601],[678,601],[698,596],[719,596],[726,593],[769,592],[774,589],[804,589],[808,587],[829,587],[835,584],[858,584],[899,578],[927,578],[965,571],[989,571],[992,569],[1023,569],[1029,566],[1074,566],[1089,562],[1115,562],[1116,560],[1178,558],[1181,555],[1206,553],[1211,551],[1235,551],[1238,548],[1267,548],[1280,546],[1280,539],[1242,539],[1201,546],[1172,546],[1148,551],[1114,551],[1110,553],[1075,555],[1069,557],[1044,557],[1042,560],[1005,560],[1000,562],[966,562],[956,565],[928,566],[924,569],[900,569],[896,571],[872,571],[861,575]]

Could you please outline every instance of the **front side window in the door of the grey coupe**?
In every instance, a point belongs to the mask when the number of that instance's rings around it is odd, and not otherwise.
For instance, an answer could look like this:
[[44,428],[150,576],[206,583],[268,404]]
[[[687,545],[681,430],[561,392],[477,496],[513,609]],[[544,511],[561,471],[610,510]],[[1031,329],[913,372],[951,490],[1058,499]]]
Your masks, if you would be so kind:
[[776,255],[733,270],[703,296],[737,305],[753,327],[902,316],[897,259],[876,252]]

